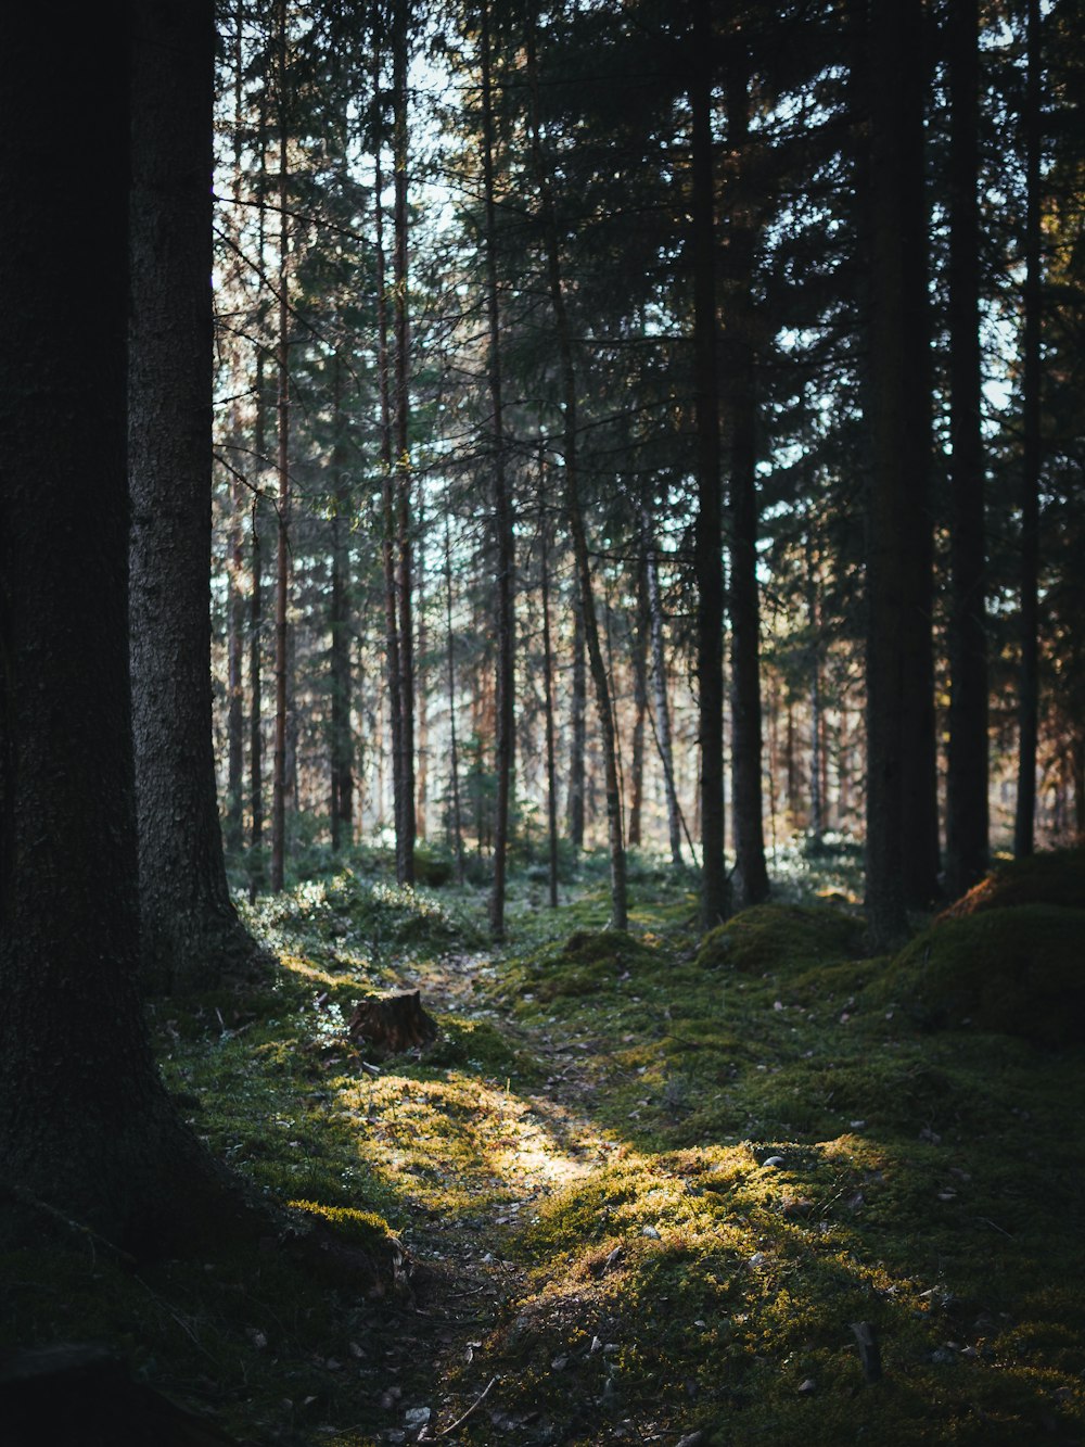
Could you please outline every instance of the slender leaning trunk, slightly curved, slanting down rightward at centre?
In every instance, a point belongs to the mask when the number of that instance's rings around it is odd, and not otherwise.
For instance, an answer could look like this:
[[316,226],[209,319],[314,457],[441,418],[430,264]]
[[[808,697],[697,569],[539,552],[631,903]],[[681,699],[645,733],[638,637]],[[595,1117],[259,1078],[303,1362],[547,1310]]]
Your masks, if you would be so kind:
[[550,174],[542,155],[542,137],[540,132],[538,106],[538,68],[535,64],[535,32],[534,25],[528,29],[528,84],[531,87],[531,148],[535,164],[535,182],[542,207],[542,230],[547,252],[547,275],[550,288],[550,302],[554,310],[554,328],[557,331],[557,349],[561,365],[561,392],[564,404],[564,504],[569,519],[569,532],[573,544],[573,563],[580,590],[580,609],[584,625],[584,642],[587,644],[587,661],[595,684],[596,709],[599,713],[599,729],[603,745],[603,773],[606,778],[606,828],[610,852],[610,926],[625,929],[628,925],[628,890],[625,875],[625,839],[622,832],[622,793],[618,778],[618,742],[613,708],[610,703],[610,686],[606,676],[606,663],[599,641],[599,621],[596,616],[595,593],[592,589],[592,569],[587,556],[587,537],[580,506],[580,479],[577,475],[577,386],[576,369],[573,365],[573,343],[566,313],[564,284],[561,279],[561,255],[557,236],[557,221],[554,216],[554,200],[550,185]]

